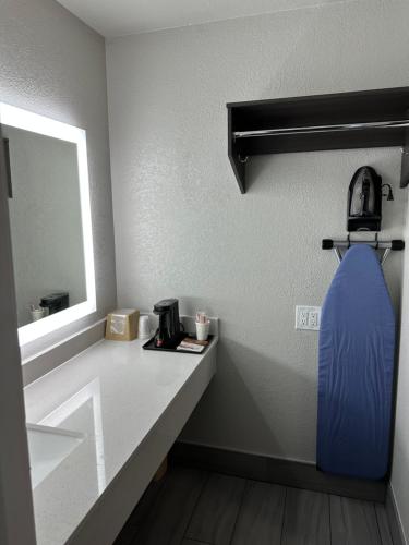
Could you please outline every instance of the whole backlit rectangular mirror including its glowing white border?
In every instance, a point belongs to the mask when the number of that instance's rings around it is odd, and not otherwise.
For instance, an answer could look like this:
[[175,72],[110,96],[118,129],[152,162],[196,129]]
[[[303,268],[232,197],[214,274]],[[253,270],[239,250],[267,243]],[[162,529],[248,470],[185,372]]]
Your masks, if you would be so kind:
[[85,131],[0,105],[20,343],[95,311]]

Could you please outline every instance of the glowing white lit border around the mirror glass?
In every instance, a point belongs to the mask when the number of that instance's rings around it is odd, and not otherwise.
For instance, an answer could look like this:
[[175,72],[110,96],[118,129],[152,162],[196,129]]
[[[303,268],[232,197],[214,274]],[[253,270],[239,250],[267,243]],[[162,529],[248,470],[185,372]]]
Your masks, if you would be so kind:
[[41,318],[38,322],[19,327],[19,341],[22,347],[96,311],[94,243],[91,217],[86,131],[4,102],[0,102],[0,124],[71,142],[76,144],[77,153],[86,300],[64,311]]

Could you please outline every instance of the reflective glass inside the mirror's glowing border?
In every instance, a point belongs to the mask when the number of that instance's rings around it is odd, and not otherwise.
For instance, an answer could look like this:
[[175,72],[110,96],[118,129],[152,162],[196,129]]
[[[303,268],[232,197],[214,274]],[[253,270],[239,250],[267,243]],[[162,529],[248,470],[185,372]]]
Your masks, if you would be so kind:
[[3,125],[19,327],[86,300],[76,145]]

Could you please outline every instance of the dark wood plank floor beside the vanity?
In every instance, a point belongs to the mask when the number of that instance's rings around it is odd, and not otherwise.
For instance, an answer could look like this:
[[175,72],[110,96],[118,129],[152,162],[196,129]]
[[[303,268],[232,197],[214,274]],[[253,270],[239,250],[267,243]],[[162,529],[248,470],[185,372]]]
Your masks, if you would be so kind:
[[394,545],[384,506],[177,467],[115,545]]

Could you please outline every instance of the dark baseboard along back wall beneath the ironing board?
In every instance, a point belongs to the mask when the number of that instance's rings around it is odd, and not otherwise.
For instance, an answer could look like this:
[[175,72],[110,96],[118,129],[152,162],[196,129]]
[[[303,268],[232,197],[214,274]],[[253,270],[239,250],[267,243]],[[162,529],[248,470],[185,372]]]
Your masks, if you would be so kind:
[[218,473],[384,502],[387,483],[329,475],[314,464],[177,441],[169,460]]

